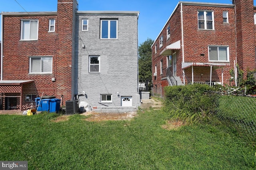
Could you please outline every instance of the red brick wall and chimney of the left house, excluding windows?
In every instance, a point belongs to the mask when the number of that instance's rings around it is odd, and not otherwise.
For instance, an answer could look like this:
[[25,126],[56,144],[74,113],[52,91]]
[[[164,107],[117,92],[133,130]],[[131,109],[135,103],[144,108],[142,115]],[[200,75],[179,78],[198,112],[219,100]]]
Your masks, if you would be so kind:
[[[22,101],[26,94],[64,96],[71,100],[72,88],[72,23],[73,0],[58,0],[56,15],[4,15],[3,27],[3,80],[34,80],[24,86]],[[76,6],[76,4],[74,4]],[[22,19],[38,20],[38,40],[20,41]],[[49,19],[55,19],[55,32],[48,32]],[[29,74],[28,56],[52,56],[52,74]],[[52,82],[55,77],[56,81]],[[23,102],[25,103],[25,102]]]

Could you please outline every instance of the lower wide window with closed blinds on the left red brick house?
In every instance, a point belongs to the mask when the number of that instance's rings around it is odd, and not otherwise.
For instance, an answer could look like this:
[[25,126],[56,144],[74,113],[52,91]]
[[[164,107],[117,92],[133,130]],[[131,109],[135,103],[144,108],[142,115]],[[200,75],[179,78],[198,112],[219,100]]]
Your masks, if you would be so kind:
[[29,58],[29,73],[52,73],[52,56]]

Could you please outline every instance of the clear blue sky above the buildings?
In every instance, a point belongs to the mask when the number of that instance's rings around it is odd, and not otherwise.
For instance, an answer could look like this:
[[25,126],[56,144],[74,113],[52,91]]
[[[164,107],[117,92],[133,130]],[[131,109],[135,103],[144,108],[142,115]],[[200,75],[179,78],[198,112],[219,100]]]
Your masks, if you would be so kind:
[[[232,0],[188,1],[232,4]],[[157,38],[178,2],[179,0],[78,0],[78,10],[139,11],[138,43],[140,45],[148,38],[152,40]],[[41,11],[57,11],[57,0],[0,0],[0,12]],[[0,28],[2,29],[1,22]]]

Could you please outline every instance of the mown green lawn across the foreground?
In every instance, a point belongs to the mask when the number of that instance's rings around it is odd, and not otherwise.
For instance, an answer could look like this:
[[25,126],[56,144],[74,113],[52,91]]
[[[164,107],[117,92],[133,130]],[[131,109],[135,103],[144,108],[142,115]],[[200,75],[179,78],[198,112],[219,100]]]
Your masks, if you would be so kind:
[[128,121],[85,121],[54,113],[0,115],[0,160],[27,160],[46,169],[256,168],[256,149],[220,122],[162,128],[168,114],[140,111]]

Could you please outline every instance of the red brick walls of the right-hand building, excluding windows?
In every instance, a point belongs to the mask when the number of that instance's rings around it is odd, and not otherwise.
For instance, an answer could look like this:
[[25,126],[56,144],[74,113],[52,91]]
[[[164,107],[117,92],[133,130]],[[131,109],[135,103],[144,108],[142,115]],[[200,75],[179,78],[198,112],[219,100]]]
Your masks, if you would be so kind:
[[[223,68],[224,84],[229,85],[230,69],[234,68],[234,61],[237,62],[241,69],[256,68],[255,64],[255,47],[256,47],[256,26],[254,25],[253,0],[236,0],[236,8],[228,7],[210,7],[210,6],[182,6],[183,14],[183,33],[184,33],[184,62],[185,63],[212,63],[208,60],[208,45],[226,45],[229,47],[229,61],[226,64],[230,66]],[[186,4],[186,3],[185,3]],[[236,9],[236,17],[235,17]],[[209,10],[214,12],[214,30],[198,29],[198,10]],[[228,11],[228,23],[223,23],[223,11]],[[236,22],[235,22],[236,19]],[[171,37],[166,41],[166,27],[171,25]],[[235,25],[236,24],[236,25]],[[175,25],[175,26],[172,26]],[[155,44],[159,47],[160,36],[164,35],[163,47],[158,49],[155,54]],[[237,36],[236,36],[237,35]],[[164,29],[152,45],[152,70],[154,73],[155,64],[157,64],[158,76],[153,76],[153,84],[161,84],[160,61],[166,66],[166,56],[160,56],[160,52],[167,45],[178,40],[182,43],[181,38],[181,18],[180,6],[174,12],[172,18],[165,25]],[[236,39],[237,37],[237,39]],[[174,52],[175,50],[173,50]],[[177,50],[176,50],[177,51]],[[177,76],[183,79],[182,74],[182,46],[176,53],[177,57]],[[223,62],[222,62],[223,63]],[[225,62],[224,62],[225,63]],[[192,68],[186,68],[186,79],[192,79]],[[201,75],[202,74],[202,75]],[[222,69],[214,67],[212,70],[212,80],[221,82]],[[210,67],[194,66],[194,81],[210,80]],[[188,81],[188,80],[186,80]]]

